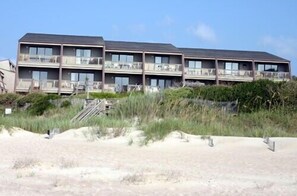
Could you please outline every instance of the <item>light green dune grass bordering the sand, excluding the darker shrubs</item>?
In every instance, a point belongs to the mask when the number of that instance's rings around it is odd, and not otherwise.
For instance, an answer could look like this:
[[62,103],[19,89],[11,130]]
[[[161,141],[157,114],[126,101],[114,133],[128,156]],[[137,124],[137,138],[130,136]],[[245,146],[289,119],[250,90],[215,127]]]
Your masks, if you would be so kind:
[[[182,95],[185,93],[190,92],[185,91]],[[71,105],[51,108],[41,116],[15,111],[10,116],[0,118],[0,125],[46,133],[53,128],[60,128],[61,131],[85,126],[124,128],[131,126],[133,119],[137,117],[137,126],[144,131],[146,141],[162,140],[176,130],[194,135],[297,136],[297,112],[284,108],[232,114],[220,108],[198,105],[181,95],[176,98],[171,94],[166,97],[166,93],[137,94],[120,99],[108,116],[70,122],[81,107],[82,105]]]

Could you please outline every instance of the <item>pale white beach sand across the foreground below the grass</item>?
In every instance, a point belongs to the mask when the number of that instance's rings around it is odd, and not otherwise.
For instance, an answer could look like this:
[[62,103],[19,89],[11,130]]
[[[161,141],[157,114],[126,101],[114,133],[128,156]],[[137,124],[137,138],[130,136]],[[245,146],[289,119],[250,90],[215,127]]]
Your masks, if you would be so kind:
[[[53,139],[0,133],[0,195],[296,195],[297,138],[213,137],[174,132],[140,147],[140,131],[96,139],[91,129]],[[132,142],[133,141],[133,142]],[[128,145],[132,143],[132,145]]]

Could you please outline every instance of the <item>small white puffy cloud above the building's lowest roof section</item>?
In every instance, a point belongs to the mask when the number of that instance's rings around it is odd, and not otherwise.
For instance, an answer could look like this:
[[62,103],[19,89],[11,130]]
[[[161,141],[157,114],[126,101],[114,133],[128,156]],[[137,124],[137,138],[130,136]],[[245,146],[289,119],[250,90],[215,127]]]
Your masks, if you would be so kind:
[[212,43],[217,41],[216,33],[210,26],[206,24],[200,23],[195,27],[190,27],[189,30],[190,33],[192,33],[194,36],[198,37],[202,41]]

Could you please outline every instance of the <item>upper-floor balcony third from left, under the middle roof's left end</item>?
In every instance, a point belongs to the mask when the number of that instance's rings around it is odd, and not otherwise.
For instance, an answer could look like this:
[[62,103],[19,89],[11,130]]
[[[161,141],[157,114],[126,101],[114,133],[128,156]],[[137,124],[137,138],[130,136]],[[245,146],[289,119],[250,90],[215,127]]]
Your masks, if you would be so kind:
[[106,73],[129,73],[129,74],[141,74],[142,62],[105,62]]

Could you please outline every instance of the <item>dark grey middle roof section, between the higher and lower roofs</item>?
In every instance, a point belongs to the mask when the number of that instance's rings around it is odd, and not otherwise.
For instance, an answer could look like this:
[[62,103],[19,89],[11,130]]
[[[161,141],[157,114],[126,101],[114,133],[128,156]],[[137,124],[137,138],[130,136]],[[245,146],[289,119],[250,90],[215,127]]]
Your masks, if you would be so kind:
[[145,42],[125,42],[125,41],[105,41],[106,50],[123,50],[135,52],[156,52],[156,53],[177,53],[181,51],[172,44],[145,43]]

